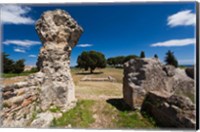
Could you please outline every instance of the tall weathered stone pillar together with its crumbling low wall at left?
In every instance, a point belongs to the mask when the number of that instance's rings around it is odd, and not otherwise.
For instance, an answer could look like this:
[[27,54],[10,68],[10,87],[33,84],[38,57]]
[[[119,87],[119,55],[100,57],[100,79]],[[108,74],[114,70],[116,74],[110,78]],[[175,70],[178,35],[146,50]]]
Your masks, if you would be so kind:
[[24,82],[3,86],[2,127],[48,127],[52,107],[67,111],[76,104],[70,54],[83,29],[64,10],[46,11],[36,22],[42,41],[39,72]]

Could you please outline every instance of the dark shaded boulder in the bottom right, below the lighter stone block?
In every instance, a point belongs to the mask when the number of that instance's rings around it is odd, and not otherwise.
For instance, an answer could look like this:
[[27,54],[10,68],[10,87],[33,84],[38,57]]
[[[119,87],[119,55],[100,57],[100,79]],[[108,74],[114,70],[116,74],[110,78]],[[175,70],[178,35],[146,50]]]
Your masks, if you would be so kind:
[[156,123],[165,128],[195,128],[195,106],[187,97],[165,96],[160,92],[148,92],[141,111],[153,116]]

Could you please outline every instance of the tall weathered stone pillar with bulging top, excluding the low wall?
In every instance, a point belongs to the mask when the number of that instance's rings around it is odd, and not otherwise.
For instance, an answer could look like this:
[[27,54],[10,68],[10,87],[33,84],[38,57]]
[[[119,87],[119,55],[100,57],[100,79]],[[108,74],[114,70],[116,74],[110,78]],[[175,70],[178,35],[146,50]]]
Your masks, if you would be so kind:
[[43,76],[41,107],[67,107],[75,101],[74,83],[70,73],[70,54],[83,29],[65,11],[47,11],[36,22],[42,41],[37,67]]

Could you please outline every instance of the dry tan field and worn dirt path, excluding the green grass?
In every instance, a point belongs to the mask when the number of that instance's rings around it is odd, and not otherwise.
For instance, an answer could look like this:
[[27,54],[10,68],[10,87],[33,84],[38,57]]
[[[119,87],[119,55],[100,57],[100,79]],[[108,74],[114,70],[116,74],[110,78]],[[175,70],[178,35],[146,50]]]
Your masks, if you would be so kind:
[[[113,120],[119,118],[120,108],[116,108],[113,103],[120,103],[123,98],[123,70],[114,68],[97,69],[94,74],[89,74],[78,69],[71,69],[71,73],[75,84],[76,98],[78,100],[93,100],[95,102],[91,108],[95,121],[90,124],[89,128],[118,128]],[[81,81],[85,76],[91,78],[112,76],[116,81]],[[26,78],[27,76],[6,78],[3,79],[3,85],[23,81]],[[142,119],[140,113],[136,114],[139,114],[139,117]]]

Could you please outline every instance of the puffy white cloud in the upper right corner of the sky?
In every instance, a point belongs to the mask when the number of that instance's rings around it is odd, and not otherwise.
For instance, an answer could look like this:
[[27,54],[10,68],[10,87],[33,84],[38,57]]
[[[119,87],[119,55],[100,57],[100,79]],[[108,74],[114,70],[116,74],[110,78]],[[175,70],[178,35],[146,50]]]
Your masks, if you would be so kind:
[[167,21],[170,27],[195,25],[196,15],[191,10],[184,10],[169,16]]

